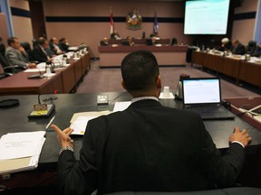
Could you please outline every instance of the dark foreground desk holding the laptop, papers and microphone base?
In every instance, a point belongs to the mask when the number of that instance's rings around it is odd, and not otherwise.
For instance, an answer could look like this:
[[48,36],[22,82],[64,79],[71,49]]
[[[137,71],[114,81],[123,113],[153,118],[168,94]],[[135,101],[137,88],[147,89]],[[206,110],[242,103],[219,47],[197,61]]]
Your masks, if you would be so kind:
[[[108,95],[109,104],[97,105],[98,95]],[[20,105],[18,107],[10,107],[5,109],[2,108],[0,110],[0,117],[2,121],[2,123],[0,123],[0,136],[12,132],[33,132],[45,130],[46,140],[43,144],[43,150],[40,155],[38,167],[34,171],[12,173],[10,175],[10,179],[7,180],[1,178],[0,184],[3,184],[9,188],[18,188],[22,186],[32,187],[37,183],[41,183],[41,181],[44,181],[43,184],[46,184],[48,183],[48,180],[51,180],[50,178],[52,178],[54,181],[57,181],[56,166],[59,157],[60,145],[57,142],[57,135],[53,132],[52,129],[50,129],[50,126],[47,126],[52,120],[53,116],[54,119],[52,124],[58,125],[63,129],[70,125],[70,120],[74,113],[104,110],[112,111],[115,102],[131,100],[131,96],[127,92],[107,92],[99,94],[43,94],[40,96],[41,101],[45,99],[46,104],[51,104],[53,102],[55,105],[55,111],[53,115],[48,118],[29,119],[27,116],[29,113],[31,113],[34,104],[37,104],[38,96],[2,96],[0,97],[0,101],[10,98],[18,99]],[[178,109],[182,109],[182,103],[179,100],[160,99],[160,103],[165,107],[176,107]],[[247,160],[247,164],[250,164],[251,166],[247,165],[247,167],[244,168],[246,172],[242,173],[241,183],[249,184],[250,182],[250,185],[258,185],[251,182],[256,180],[256,178],[258,178],[258,174],[260,173],[260,167],[258,170],[256,170],[256,166],[258,163],[260,164],[261,130],[258,130],[254,126],[247,124],[247,122],[237,116],[232,120],[206,120],[204,121],[204,124],[220,152],[226,151],[228,147],[228,136],[232,134],[233,128],[235,126],[238,126],[240,129],[247,128],[248,134],[252,137],[251,144],[249,144],[246,148],[247,159],[249,159],[249,162]],[[171,126],[169,126],[169,128],[171,128]],[[77,160],[79,160],[79,151],[82,145],[82,135],[72,136],[75,157]],[[251,174],[251,178],[247,178],[246,181],[248,174]],[[35,181],[25,182],[27,180],[26,178],[29,178],[28,180],[34,179]]]

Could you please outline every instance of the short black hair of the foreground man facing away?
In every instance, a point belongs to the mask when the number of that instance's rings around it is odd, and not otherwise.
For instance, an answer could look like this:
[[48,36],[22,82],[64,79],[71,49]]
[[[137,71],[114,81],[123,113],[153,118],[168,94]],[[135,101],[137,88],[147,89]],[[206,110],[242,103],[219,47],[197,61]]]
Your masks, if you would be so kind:
[[121,62],[121,76],[127,91],[153,88],[160,70],[150,51],[133,51]]

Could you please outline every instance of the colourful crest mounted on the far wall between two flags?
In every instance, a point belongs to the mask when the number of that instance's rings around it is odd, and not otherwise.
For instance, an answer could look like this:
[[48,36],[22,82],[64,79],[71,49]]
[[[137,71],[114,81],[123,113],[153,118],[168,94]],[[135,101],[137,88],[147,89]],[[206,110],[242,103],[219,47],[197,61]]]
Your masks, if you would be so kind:
[[133,9],[126,17],[127,28],[131,30],[141,29],[142,17],[137,9]]

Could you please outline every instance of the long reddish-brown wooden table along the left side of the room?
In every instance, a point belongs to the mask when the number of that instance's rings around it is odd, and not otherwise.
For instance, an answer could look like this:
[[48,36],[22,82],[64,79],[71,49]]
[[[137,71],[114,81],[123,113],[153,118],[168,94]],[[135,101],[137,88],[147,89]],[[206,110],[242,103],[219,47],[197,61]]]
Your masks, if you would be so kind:
[[18,72],[11,77],[0,80],[0,96],[18,94],[46,94],[71,92],[82,76],[91,67],[90,53],[87,52],[78,60],[70,59],[70,66],[55,70],[53,77],[28,79],[39,72]]

